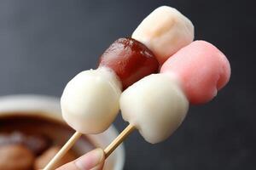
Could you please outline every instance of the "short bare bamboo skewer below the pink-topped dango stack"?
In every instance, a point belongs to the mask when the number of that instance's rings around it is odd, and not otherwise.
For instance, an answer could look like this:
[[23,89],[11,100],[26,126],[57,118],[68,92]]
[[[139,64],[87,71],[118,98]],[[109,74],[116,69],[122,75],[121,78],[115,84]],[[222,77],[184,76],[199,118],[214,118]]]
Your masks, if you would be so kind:
[[119,144],[121,144],[126,139],[126,137],[129,136],[130,133],[132,133],[134,129],[135,127],[131,124],[125,127],[125,129],[121,133],[119,133],[118,137],[116,137],[116,139],[114,139],[112,143],[109,144],[108,147],[104,150],[105,158],[110,156],[113,150],[115,150],[119,146]]

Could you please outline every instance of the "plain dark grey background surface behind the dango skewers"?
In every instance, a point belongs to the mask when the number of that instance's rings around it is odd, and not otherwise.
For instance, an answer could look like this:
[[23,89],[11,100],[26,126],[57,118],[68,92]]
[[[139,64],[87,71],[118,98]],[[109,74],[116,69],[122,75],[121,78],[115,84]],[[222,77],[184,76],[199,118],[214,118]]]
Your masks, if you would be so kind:
[[[255,4],[253,1],[0,1],[0,95],[60,96],[79,71],[95,68],[111,42],[131,35],[154,8],[167,4],[195,25],[195,39],[230,59],[232,76],[218,98],[193,106],[172,138],[125,141],[125,169],[254,169]],[[125,123],[115,122],[121,130]]]

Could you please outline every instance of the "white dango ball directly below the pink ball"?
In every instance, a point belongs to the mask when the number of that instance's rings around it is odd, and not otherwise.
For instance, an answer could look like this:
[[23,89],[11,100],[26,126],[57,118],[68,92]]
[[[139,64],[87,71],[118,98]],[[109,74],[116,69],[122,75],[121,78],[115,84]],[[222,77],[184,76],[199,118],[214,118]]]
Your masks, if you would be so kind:
[[176,78],[166,74],[144,77],[120,97],[124,120],[152,144],[168,138],[183,122],[188,109],[189,101]]

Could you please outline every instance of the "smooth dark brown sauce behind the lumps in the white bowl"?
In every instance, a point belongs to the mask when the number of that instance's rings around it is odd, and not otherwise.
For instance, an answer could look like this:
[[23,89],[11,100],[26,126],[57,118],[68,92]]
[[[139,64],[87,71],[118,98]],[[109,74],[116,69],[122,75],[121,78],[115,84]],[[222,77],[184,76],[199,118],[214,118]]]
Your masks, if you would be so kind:
[[[22,133],[27,136],[44,136],[49,139],[50,145],[62,146],[75,132],[65,122],[41,116],[42,113],[20,114],[20,112],[14,112],[7,115],[9,116],[0,116],[0,135]],[[73,150],[77,156],[80,156],[93,148],[95,145],[83,135],[74,145]]]

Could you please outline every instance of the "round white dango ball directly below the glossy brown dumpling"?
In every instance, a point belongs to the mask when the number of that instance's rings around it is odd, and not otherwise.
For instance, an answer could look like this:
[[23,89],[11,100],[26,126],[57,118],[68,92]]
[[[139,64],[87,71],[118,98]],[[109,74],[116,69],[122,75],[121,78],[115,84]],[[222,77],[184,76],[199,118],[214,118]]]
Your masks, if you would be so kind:
[[105,67],[80,72],[61,96],[62,117],[79,133],[102,133],[119,111],[121,85]]

